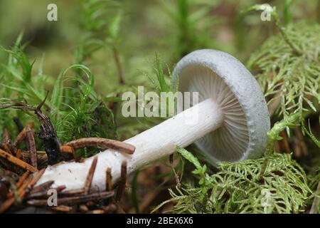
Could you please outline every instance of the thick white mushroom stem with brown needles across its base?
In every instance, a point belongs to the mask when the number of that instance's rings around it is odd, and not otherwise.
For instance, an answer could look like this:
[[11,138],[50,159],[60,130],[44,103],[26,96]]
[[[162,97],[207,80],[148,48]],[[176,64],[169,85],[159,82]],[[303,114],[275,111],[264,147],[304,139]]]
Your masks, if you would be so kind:
[[[127,160],[128,174],[170,155],[176,146],[186,147],[207,133],[217,129],[223,123],[223,110],[213,99],[204,100],[174,117],[129,138],[125,142],[136,147],[133,155],[124,155],[115,150],[105,150],[98,157],[92,188],[104,190],[107,167],[112,170],[112,182],[120,177],[122,161]],[[65,185],[65,190],[77,190],[83,187],[93,157],[85,162],[65,162],[48,167],[37,185],[54,180],[54,185]]]

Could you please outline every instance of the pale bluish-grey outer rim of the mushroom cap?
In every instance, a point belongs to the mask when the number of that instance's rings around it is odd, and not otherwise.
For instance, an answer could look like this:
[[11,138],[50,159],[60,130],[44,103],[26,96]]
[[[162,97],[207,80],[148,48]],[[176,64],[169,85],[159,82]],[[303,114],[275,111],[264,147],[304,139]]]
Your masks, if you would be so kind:
[[[229,86],[242,107],[247,119],[249,142],[240,160],[261,157],[267,146],[267,132],[270,130],[270,117],[265,96],[259,83],[250,71],[237,58],[223,51],[201,49],[193,51],[178,61],[174,68],[174,80],[183,68],[196,64],[210,68]],[[183,80],[183,78],[179,78]],[[250,86],[248,86],[250,85]],[[197,141],[196,145],[202,148]],[[213,158],[213,164],[220,160]]]

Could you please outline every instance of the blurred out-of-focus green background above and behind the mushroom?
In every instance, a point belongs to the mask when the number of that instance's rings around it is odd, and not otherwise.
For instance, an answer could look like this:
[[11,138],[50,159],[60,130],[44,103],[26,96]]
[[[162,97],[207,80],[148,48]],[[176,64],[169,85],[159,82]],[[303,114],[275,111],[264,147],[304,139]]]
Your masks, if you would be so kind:
[[[58,21],[47,20],[51,3],[58,6]],[[146,75],[154,74],[155,53],[170,70],[198,48],[226,51],[246,63],[250,53],[277,33],[272,22],[260,19],[260,12],[241,14],[265,3],[277,6],[283,24],[319,21],[316,0],[0,0],[0,46],[14,46],[23,32],[26,54],[36,60],[33,71],[44,56],[43,73],[54,81],[71,64],[82,63],[94,74],[97,93],[112,97],[151,86]],[[6,53],[0,53],[0,61],[6,61]],[[126,122],[118,120],[121,138],[139,131],[122,135]]]

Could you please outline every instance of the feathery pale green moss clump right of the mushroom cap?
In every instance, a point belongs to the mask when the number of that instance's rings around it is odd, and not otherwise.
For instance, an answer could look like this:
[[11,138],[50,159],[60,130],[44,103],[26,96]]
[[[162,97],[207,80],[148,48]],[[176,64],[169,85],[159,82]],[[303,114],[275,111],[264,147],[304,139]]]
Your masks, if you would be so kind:
[[252,54],[248,66],[257,71],[268,103],[279,100],[279,114],[287,118],[290,113],[316,111],[320,103],[320,26],[289,24],[284,33],[299,53],[279,34]]

